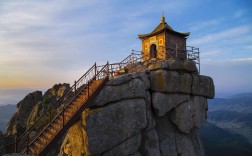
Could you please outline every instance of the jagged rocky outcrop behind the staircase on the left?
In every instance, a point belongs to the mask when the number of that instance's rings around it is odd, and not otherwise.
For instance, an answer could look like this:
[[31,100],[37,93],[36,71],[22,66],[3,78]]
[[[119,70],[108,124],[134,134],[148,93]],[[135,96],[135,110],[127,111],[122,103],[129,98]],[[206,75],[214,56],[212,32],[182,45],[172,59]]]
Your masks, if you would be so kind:
[[17,111],[8,123],[6,135],[22,134],[27,127],[32,125],[69,88],[69,84],[56,84],[48,89],[44,95],[42,95],[41,91],[35,91],[26,95],[17,104]]

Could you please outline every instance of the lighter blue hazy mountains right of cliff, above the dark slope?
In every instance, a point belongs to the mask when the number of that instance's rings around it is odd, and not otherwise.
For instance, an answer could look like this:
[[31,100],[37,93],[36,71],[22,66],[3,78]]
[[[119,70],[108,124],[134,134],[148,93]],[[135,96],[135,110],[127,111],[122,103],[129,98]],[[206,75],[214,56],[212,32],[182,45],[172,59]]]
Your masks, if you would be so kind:
[[252,93],[209,100],[208,121],[252,143]]

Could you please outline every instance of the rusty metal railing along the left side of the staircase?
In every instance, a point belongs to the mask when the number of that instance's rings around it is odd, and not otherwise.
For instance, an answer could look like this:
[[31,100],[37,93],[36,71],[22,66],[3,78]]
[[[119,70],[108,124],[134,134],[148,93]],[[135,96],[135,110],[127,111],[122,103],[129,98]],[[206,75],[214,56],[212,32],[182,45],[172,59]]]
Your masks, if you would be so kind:
[[15,143],[2,146],[0,152],[2,154],[6,152],[18,153],[26,149],[31,143],[31,140],[34,140],[49,123],[51,123],[60,113],[64,112],[64,108],[79,95],[83,88],[89,85],[90,81],[105,78],[107,76],[107,68],[108,65],[105,65],[100,70],[97,70],[97,66],[94,64],[78,81],[75,81],[74,85],[65,92],[56,103],[52,104],[31,127],[29,127],[18,139],[16,139]]

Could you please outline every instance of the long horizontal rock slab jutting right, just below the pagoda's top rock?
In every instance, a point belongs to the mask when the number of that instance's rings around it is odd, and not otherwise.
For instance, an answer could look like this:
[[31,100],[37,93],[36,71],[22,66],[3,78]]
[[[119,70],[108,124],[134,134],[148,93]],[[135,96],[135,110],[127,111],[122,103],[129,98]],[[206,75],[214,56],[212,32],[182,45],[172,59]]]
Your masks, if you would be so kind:
[[177,71],[152,71],[150,84],[153,91],[162,93],[181,93],[213,98],[215,92],[211,77]]

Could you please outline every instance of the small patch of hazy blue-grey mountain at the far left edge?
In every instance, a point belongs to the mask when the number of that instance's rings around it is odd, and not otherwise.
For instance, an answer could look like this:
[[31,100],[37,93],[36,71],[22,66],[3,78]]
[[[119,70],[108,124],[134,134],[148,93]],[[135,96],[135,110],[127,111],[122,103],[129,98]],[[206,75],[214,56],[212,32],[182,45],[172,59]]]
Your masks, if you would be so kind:
[[10,121],[11,116],[16,111],[16,105],[0,106],[0,130],[6,131],[7,123]]

